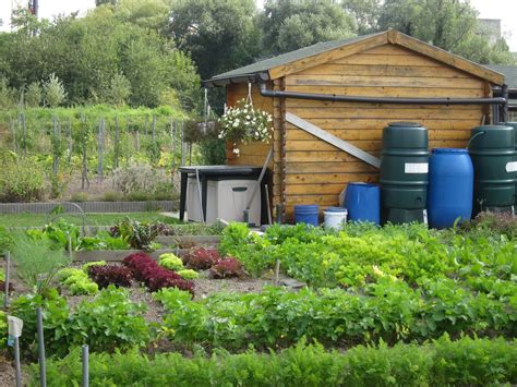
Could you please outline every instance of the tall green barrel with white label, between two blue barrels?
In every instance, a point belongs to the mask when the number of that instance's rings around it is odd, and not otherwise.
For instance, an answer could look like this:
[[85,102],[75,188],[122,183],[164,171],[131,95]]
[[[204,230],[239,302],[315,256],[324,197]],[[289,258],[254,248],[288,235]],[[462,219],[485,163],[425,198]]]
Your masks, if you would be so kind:
[[383,222],[426,221],[428,130],[413,122],[384,128],[381,155]]

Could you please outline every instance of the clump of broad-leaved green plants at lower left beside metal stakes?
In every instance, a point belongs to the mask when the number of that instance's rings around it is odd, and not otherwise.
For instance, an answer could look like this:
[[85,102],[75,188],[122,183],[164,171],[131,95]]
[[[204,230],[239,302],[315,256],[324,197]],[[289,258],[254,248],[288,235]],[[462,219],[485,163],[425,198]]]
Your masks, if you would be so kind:
[[145,306],[129,300],[123,289],[108,287],[93,300],[82,301],[70,313],[64,298],[51,290],[44,295],[22,295],[12,303],[12,315],[24,321],[22,350],[37,348],[36,307],[44,311],[45,346],[48,354],[65,355],[74,346],[87,343],[91,351],[124,350],[145,346],[149,326]]

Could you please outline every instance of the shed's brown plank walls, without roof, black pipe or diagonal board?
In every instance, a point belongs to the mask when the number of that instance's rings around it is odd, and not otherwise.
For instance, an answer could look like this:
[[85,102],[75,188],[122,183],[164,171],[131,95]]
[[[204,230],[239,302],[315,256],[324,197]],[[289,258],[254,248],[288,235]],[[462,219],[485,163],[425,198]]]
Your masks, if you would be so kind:
[[[384,45],[275,81],[275,87],[291,92],[372,97],[488,97],[486,81],[437,62],[400,46]],[[247,85],[228,87],[228,105],[248,94]],[[275,113],[274,204],[286,204],[288,218],[296,204],[338,204],[347,183],[378,181],[378,170],[332,145],[287,124],[292,112],[351,144],[380,156],[382,130],[389,122],[414,121],[429,129],[430,148],[465,147],[470,129],[490,114],[480,106],[401,106],[345,104],[316,100],[262,98],[255,106]],[[276,107],[276,109],[275,109]],[[284,141],[285,158],[280,156]],[[228,153],[228,164],[261,165],[267,146],[249,145],[241,156]],[[284,171],[285,173],[281,173]],[[284,194],[284,195],[282,195]]]

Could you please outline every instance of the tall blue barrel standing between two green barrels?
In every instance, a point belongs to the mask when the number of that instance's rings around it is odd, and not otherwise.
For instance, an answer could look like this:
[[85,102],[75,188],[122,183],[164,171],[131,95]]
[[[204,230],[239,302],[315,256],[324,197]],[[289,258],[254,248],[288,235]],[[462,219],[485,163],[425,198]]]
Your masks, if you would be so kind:
[[472,215],[473,167],[467,149],[433,149],[429,160],[428,217],[436,229]]

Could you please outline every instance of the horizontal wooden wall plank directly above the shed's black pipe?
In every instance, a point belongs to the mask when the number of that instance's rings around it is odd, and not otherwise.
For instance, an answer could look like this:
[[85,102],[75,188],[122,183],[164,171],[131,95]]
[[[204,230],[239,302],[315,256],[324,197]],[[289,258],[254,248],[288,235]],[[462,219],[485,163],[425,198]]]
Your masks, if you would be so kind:
[[483,81],[478,78],[454,78],[441,77],[440,71],[435,76],[384,76],[384,75],[305,75],[293,74],[286,78],[287,86],[308,85],[308,86],[386,86],[386,87],[441,87],[450,88],[483,88]]

